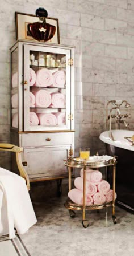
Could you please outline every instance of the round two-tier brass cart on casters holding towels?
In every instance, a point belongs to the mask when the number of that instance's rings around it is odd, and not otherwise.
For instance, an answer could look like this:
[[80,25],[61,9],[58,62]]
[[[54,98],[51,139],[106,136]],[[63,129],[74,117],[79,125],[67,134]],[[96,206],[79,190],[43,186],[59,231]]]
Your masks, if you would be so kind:
[[[73,168],[83,168],[83,204],[79,205],[74,203],[69,198],[65,202],[65,207],[69,210],[70,217],[74,218],[76,217],[75,210],[82,210],[82,226],[88,227],[89,222],[86,220],[86,210],[99,210],[103,208],[107,208],[109,206],[112,206],[112,220],[114,224],[116,224],[116,216],[115,216],[115,171],[116,171],[116,156],[110,157],[108,160],[95,160],[95,161],[79,161],[77,158],[70,157],[68,160],[65,161],[65,166],[68,167],[68,176],[69,176],[69,191],[71,190],[71,182],[72,182],[72,171]],[[90,167],[92,169],[94,168],[101,168],[107,166],[112,166],[112,177],[113,177],[113,184],[112,184],[112,201],[100,204],[100,205],[86,205],[86,168]]]

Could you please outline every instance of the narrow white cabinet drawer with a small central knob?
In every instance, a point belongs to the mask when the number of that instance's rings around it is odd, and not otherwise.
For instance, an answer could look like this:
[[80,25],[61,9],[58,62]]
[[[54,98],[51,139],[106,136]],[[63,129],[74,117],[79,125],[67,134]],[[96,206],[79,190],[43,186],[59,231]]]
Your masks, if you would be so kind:
[[22,134],[22,147],[70,145],[74,143],[73,132]]

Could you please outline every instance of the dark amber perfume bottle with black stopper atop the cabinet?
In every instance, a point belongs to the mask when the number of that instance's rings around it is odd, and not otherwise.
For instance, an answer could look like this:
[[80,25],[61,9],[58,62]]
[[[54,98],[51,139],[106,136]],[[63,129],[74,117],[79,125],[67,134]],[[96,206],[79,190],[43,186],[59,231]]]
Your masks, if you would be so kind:
[[35,40],[47,42],[55,35],[56,27],[46,22],[48,13],[44,8],[37,9],[36,16],[39,17],[39,22],[29,23],[28,31]]

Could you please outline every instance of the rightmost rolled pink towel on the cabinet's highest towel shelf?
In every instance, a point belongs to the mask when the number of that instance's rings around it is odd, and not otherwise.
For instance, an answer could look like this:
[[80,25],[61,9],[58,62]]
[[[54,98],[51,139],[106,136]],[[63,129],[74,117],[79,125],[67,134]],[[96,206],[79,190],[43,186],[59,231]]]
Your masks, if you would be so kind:
[[53,74],[53,84],[52,87],[63,88],[65,87],[65,72],[59,70]]

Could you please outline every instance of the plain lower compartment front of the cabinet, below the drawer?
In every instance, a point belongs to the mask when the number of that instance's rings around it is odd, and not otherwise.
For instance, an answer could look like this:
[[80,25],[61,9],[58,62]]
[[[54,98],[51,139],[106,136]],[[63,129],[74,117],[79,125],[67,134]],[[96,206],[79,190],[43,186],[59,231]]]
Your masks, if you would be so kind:
[[68,156],[68,146],[24,149],[26,172],[30,178],[56,178],[67,176],[64,159]]

